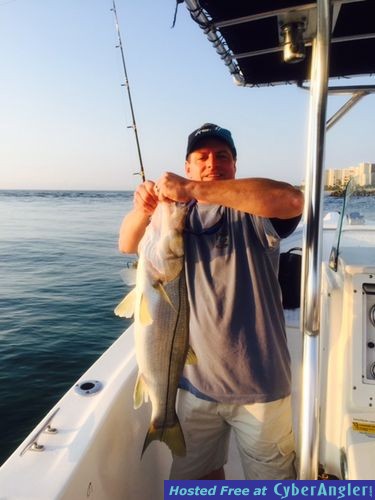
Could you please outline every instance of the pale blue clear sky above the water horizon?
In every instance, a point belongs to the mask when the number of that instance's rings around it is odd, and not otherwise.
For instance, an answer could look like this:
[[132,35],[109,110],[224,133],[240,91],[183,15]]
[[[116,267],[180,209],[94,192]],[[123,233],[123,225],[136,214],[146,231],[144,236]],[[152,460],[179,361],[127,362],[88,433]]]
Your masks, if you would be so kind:
[[[0,189],[133,190],[140,182],[111,7],[0,0]],[[174,29],[174,0],[116,7],[147,178],[183,174],[188,134],[213,122],[232,131],[238,177],[301,184],[308,92],[237,87],[184,4]],[[328,117],[345,100],[331,97]],[[372,95],[327,133],[326,168],[375,162],[374,116]]]

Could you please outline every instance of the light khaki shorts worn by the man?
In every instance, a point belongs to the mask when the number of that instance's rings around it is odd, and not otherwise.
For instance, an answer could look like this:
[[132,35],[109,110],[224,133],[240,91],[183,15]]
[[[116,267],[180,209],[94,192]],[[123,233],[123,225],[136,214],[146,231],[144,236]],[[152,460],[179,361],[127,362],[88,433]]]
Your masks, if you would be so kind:
[[246,479],[295,479],[290,396],[269,403],[212,403],[179,390],[186,457],[173,457],[171,479],[199,479],[223,467],[233,429]]

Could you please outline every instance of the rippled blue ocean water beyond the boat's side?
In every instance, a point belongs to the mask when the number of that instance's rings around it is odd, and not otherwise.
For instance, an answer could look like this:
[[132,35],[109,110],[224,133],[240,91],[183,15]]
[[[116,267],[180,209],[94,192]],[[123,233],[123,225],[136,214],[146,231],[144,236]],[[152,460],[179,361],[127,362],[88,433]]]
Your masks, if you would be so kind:
[[128,290],[117,238],[132,197],[0,191],[0,463],[129,326],[113,309]]

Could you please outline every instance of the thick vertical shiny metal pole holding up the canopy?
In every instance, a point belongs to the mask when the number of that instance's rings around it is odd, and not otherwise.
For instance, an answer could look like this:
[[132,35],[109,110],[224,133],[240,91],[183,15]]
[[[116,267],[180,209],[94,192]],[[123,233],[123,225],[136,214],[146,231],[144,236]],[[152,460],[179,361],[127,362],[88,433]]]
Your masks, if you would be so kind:
[[320,273],[330,26],[330,0],[317,0],[317,32],[312,50],[305,180],[299,479],[318,477]]

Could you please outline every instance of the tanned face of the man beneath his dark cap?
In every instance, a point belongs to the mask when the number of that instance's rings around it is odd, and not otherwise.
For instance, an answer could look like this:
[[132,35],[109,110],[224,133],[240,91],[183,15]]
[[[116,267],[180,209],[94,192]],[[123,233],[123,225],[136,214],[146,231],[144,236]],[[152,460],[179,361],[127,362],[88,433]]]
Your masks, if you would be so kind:
[[206,139],[185,162],[186,176],[193,181],[234,179],[236,160],[229,146],[217,139]]

